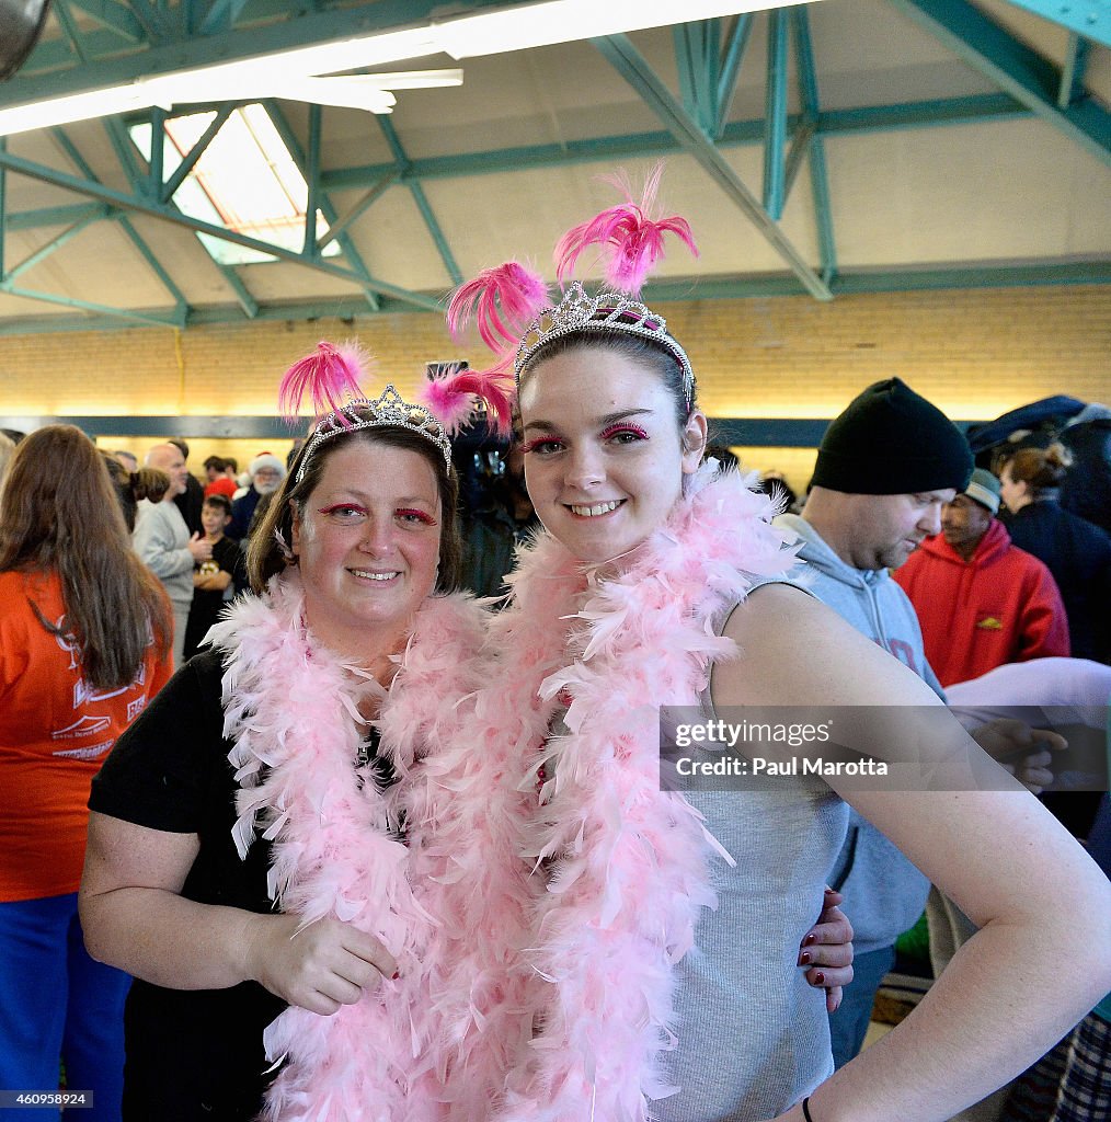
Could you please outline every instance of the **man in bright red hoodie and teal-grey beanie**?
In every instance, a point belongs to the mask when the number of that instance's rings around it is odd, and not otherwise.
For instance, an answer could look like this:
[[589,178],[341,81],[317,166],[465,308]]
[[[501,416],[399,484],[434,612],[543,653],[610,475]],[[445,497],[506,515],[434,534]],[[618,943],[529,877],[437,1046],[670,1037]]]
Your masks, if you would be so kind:
[[999,480],[977,468],[943,508],[942,533],[894,573],[943,686],[1069,653],[1060,592],[1043,562],[1011,544],[995,518],[999,502]]

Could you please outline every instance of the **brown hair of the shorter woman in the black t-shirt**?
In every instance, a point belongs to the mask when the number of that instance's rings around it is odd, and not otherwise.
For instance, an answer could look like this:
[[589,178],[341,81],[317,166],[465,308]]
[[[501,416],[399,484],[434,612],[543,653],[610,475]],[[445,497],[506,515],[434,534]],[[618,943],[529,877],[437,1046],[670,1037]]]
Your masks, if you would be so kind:
[[[351,433],[340,433],[330,436],[320,444],[312,447],[305,441],[297,452],[296,459],[290,466],[290,473],[282,480],[282,487],[274,493],[266,514],[258,528],[251,533],[247,546],[247,572],[250,587],[261,592],[266,582],[275,573],[282,572],[290,561],[282,552],[278,536],[287,544],[293,541],[293,509],[303,509],[309,496],[316,489],[324,471],[328,457],[338,448],[346,448],[352,440],[361,440],[367,444],[384,444],[387,448],[402,448],[422,456],[435,472],[437,489],[440,495],[440,571],[437,578],[437,590],[449,591],[456,587],[462,561],[462,540],[459,533],[459,480],[452,468],[443,460],[443,453],[425,436],[407,429],[388,425],[371,429],[356,429]],[[297,482],[297,472],[305,459],[305,451],[312,448],[309,462],[305,466],[304,478]]]

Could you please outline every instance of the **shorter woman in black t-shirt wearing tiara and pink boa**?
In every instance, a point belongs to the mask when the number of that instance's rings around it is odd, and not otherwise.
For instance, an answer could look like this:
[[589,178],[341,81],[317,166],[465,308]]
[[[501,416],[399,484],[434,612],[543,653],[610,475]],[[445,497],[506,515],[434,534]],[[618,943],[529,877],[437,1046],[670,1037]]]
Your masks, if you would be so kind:
[[481,613],[442,594],[459,557],[442,427],[392,386],[340,406],[358,373],[323,343],[291,370],[290,412],[305,385],[332,412],[252,540],[257,596],[94,783],[85,934],[137,978],[125,1119],[246,1122],[264,1091],[270,1118],[437,1116],[432,913],[470,891],[447,875],[453,829],[481,827],[443,815],[432,771],[463,794],[474,775],[428,746],[453,719],[439,691],[476,684]]

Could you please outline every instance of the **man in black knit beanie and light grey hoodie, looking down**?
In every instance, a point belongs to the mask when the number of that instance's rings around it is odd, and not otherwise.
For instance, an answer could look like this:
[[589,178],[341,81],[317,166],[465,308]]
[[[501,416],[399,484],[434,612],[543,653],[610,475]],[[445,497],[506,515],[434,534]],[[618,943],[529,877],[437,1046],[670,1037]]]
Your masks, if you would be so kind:
[[[939,532],[942,506],[964,490],[972,467],[961,430],[889,378],[869,386],[826,430],[802,514],[775,519],[802,541],[807,588],[943,698],[915,609],[888,570]],[[922,913],[929,882],[853,811],[830,884],[845,894],[855,932],[853,984],[829,1022],[842,1067],[864,1042],[894,941]]]

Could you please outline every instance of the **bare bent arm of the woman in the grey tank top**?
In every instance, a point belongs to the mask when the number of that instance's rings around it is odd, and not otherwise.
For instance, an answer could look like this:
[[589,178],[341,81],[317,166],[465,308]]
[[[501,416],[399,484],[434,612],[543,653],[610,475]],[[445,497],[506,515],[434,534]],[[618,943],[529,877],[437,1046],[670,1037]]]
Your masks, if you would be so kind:
[[[891,707],[940,705],[896,659],[797,590],[762,588],[725,633],[742,656],[715,666],[719,712],[874,707],[890,736]],[[946,747],[956,735],[948,733]],[[1107,879],[1032,795],[968,746],[982,775],[997,769],[994,790],[839,791],[981,930],[900,1026],[815,1092],[815,1122],[942,1122],[1039,1058],[1111,988]],[[883,737],[867,744],[881,757],[889,747]]]

